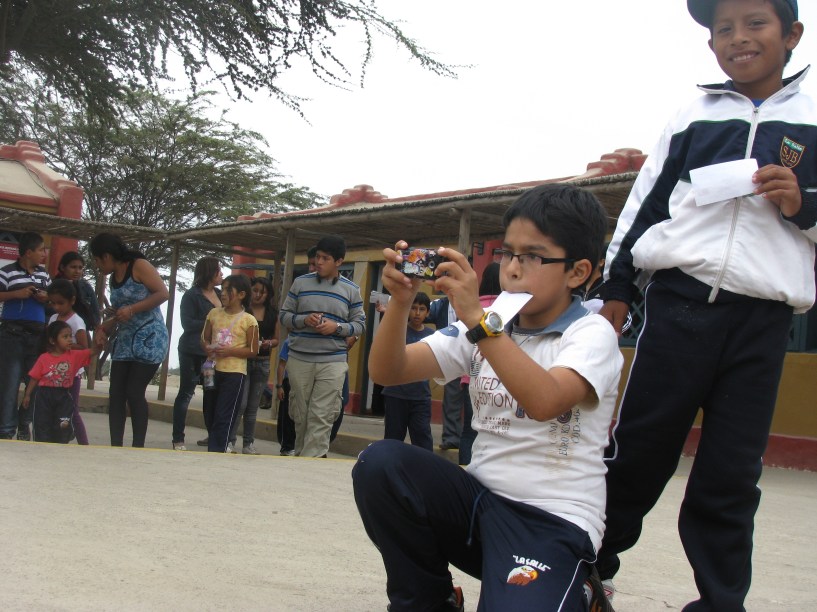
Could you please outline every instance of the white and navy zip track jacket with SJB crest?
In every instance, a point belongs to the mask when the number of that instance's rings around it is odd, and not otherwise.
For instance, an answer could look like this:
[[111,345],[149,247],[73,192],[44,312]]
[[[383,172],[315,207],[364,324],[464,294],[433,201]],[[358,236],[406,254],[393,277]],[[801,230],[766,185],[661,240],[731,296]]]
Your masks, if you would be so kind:
[[[654,272],[678,269],[710,288],[785,302],[814,303],[817,240],[817,105],[800,91],[808,68],[759,107],[726,85],[667,125],[621,212],[607,251],[605,300],[630,303]],[[771,202],[744,196],[697,206],[689,172],[754,158],[792,169],[803,207],[783,217]]]

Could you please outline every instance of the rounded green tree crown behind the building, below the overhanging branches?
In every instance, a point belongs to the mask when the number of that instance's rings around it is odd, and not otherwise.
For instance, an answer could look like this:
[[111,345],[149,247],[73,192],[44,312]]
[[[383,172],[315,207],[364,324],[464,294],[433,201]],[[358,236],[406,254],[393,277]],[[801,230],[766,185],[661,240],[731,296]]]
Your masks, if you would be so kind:
[[[320,196],[277,174],[256,132],[214,112],[206,92],[172,100],[145,90],[128,93],[117,125],[41,83],[0,84],[0,142],[40,144],[49,164],[85,189],[83,217],[183,230],[263,210],[315,205]],[[136,245],[169,267],[167,245]],[[185,267],[203,254],[185,249]]]

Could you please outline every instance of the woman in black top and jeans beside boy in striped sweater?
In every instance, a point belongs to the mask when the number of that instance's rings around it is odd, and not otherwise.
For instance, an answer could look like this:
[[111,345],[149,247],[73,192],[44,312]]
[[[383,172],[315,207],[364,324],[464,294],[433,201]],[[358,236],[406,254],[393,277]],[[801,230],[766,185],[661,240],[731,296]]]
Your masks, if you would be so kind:
[[261,396],[270,381],[270,356],[272,349],[278,346],[278,309],[274,306],[272,283],[261,276],[255,276],[250,282],[252,297],[250,299],[250,314],[258,321],[258,355],[247,359],[247,385],[244,399],[241,402],[238,417],[230,431],[228,451],[235,450],[238,422],[244,418],[243,447],[246,455],[257,455],[255,449],[255,421],[258,417],[258,407]]

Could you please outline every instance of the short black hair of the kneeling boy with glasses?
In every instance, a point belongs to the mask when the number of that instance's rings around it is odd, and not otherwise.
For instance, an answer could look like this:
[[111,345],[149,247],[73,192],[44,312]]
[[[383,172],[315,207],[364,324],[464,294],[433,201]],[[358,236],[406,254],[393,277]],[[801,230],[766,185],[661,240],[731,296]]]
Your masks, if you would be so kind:
[[[602,205],[589,191],[554,183],[523,193],[505,212],[505,229],[514,219],[527,219],[557,246],[565,257],[588,259],[595,268],[602,256],[608,219]],[[569,270],[572,264],[565,264]]]

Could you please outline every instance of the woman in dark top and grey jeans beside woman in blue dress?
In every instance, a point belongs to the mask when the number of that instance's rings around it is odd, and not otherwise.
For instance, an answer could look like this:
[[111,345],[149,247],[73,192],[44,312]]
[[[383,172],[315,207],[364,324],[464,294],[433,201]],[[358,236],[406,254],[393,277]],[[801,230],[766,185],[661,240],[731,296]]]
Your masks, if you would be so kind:
[[[179,338],[179,393],[173,402],[173,450],[184,446],[184,426],[187,408],[201,376],[201,365],[207,359],[201,347],[201,332],[207,314],[221,307],[221,264],[215,257],[202,257],[196,262],[193,286],[184,292],[179,312],[184,332]],[[207,442],[204,441],[206,445]]]

